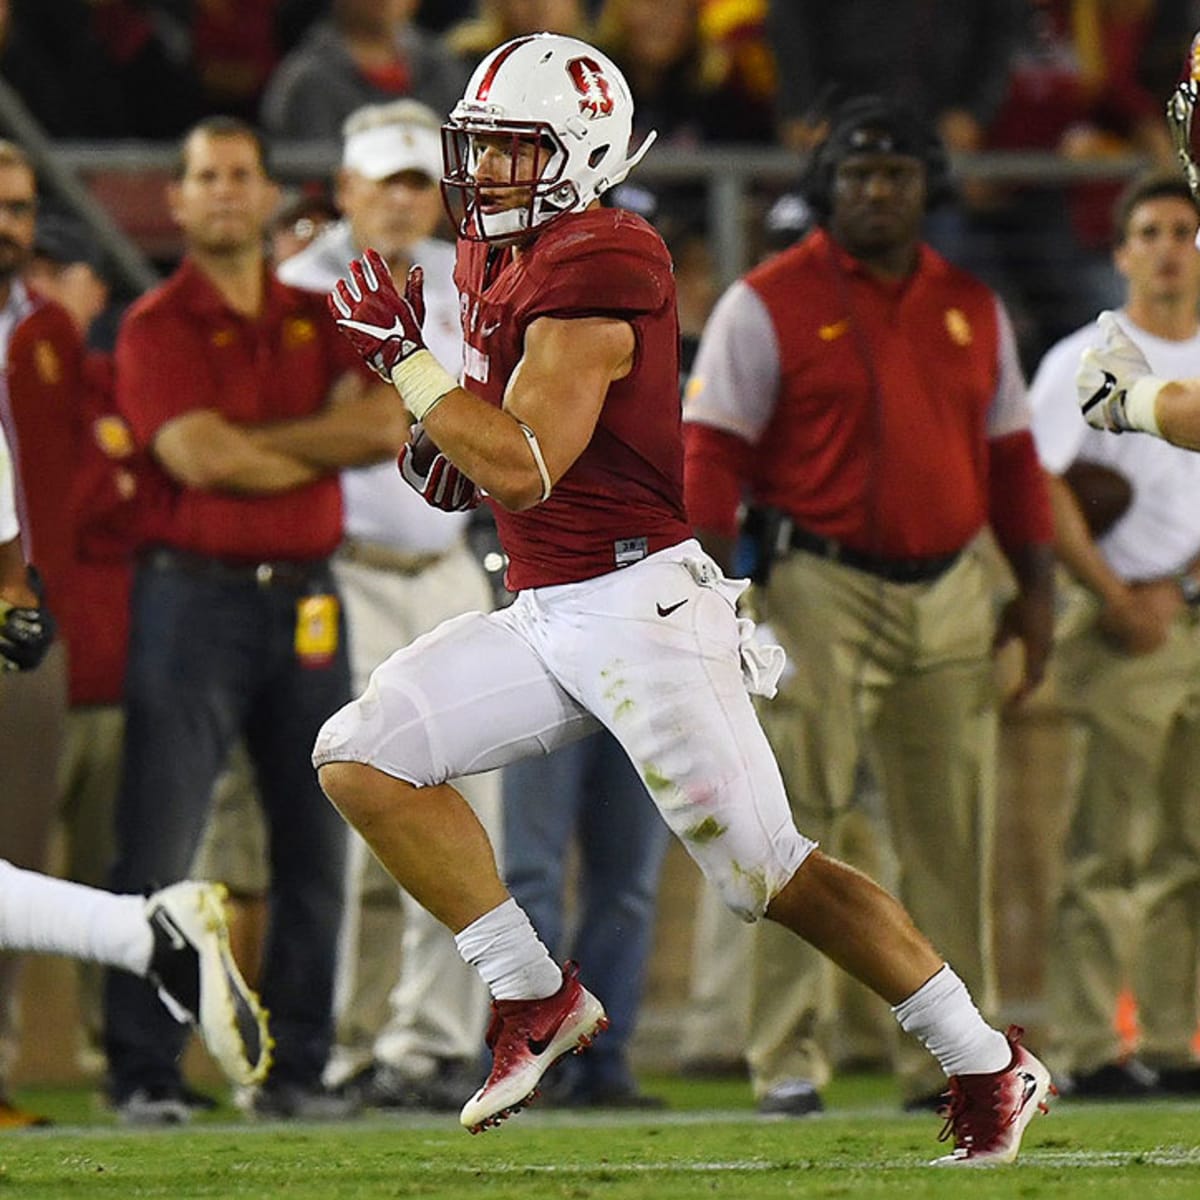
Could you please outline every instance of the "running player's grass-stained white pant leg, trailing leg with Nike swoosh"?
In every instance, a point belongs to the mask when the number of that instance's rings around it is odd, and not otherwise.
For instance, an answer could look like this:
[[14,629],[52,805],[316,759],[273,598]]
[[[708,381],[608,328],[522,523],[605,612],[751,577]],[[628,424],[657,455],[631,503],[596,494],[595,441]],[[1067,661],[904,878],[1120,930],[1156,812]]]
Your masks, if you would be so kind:
[[679,563],[644,568],[620,572],[607,595],[595,589],[575,614],[581,700],[726,904],[757,917],[812,844],[796,830],[746,692],[728,589],[697,583]]

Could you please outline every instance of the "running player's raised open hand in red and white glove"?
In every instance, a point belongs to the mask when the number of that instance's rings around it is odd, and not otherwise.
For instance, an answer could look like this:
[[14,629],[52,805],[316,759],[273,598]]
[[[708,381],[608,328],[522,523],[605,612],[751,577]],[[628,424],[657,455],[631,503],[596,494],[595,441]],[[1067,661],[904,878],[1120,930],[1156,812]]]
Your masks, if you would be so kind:
[[421,268],[414,266],[401,295],[388,264],[377,251],[368,250],[350,263],[349,280],[338,280],[329,294],[329,311],[337,328],[385,383],[392,382],[391,372],[400,362],[426,348],[421,337],[422,278]]

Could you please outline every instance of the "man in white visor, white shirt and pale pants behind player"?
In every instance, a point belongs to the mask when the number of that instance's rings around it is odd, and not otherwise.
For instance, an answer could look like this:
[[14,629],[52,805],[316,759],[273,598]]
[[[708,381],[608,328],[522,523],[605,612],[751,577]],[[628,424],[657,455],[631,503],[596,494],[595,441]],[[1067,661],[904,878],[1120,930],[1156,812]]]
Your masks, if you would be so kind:
[[[440,361],[457,370],[462,326],[455,250],[432,236],[442,214],[440,178],[440,121],[430,108],[401,100],[352,113],[343,126],[336,180],[343,220],[283,263],[278,275],[294,287],[328,292],[368,246],[398,278],[413,264],[421,265],[426,342]],[[346,604],[354,686],[361,691],[394,650],[448,617],[491,608],[492,593],[467,546],[469,512],[431,508],[390,462],[344,472],[342,492],[346,540],[335,569]],[[460,786],[494,838],[498,775],[476,775]],[[343,950],[349,974],[343,978],[332,1070],[344,1075],[370,1056],[373,1062],[361,1076],[368,1104],[457,1109],[478,1082],[487,991],[446,929],[407,894],[401,894],[403,953],[397,982],[397,888],[362,842],[358,862],[361,929],[347,940],[347,947],[353,946],[358,932],[358,952]],[[390,1019],[377,1031],[372,1013],[379,1012],[394,984]]]

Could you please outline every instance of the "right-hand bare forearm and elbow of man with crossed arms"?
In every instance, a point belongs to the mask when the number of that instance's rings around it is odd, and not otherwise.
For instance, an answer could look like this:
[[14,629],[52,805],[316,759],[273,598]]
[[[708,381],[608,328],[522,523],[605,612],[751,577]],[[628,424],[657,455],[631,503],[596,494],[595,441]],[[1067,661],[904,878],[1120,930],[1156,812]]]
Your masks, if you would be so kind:
[[409,424],[395,388],[347,372],[319,413],[258,425],[246,436],[259,450],[299,458],[326,473],[395,458]]

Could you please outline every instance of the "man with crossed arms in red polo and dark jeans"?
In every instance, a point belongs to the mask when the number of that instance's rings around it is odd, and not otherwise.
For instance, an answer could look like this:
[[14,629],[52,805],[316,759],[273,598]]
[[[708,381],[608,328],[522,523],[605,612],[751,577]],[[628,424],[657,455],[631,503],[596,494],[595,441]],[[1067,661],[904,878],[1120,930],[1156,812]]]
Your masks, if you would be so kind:
[[[270,275],[278,196],[251,127],[209,118],[190,131],[168,200],[186,257],[133,305],[116,343],[118,407],[148,464],[113,887],[185,877],[244,737],[271,860],[262,991],[276,1056],[256,1111],[342,1116],[320,1074],[346,838],[304,745],[350,694],[329,565],[337,473],[392,456],[406,421],[395,394],[342,355],[316,298]],[[121,1117],[187,1120],[179,1048],[150,989],[113,972],[106,1021]]]

